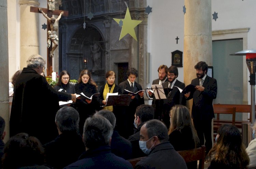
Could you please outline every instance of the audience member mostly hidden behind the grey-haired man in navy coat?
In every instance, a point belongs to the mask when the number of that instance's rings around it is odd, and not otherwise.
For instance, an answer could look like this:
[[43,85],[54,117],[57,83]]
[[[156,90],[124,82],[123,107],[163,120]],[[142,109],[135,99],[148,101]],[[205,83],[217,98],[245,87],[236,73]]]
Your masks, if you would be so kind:
[[117,130],[115,129],[116,118],[114,113],[110,110],[100,110],[96,112],[96,114],[99,114],[104,118],[108,119],[114,128],[110,145],[111,152],[117,155],[118,157],[122,157],[124,159],[131,159],[131,142],[125,139],[124,137],[120,136]]

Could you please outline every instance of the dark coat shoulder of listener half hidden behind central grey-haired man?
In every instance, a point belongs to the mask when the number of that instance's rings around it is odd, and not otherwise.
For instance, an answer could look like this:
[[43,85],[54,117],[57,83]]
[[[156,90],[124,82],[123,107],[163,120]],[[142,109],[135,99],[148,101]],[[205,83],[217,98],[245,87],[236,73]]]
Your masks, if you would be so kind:
[[131,142],[120,136],[115,129],[112,135],[110,147],[111,152],[114,153],[116,156],[122,157],[126,160],[132,158]]

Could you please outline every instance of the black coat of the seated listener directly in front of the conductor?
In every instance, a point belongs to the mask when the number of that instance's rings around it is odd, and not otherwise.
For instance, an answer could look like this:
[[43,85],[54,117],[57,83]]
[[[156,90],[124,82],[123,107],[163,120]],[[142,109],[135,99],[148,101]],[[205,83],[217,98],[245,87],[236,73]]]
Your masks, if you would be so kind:
[[76,162],[85,151],[82,137],[76,131],[64,132],[43,147],[46,164],[56,169]]

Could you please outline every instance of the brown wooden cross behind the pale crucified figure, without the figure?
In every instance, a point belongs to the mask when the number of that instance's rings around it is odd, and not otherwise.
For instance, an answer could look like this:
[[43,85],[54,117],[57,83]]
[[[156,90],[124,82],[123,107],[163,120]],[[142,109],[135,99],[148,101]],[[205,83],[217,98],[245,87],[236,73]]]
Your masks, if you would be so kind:
[[[47,5],[47,8],[49,6]],[[38,7],[30,6],[30,12],[35,12],[35,13],[41,13]],[[49,11],[46,8],[42,8],[42,11],[47,14],[49,18],[51,18],[53,15],[59,15],[61,12],[64,12],[62,16],[68,16],[69,12],[68,11],[61,11],[61,10],[54,10],[54,11]],[[47,22],[47,39],[48,39],[48,31],[51,30],[50,23]],[[53,42],[52,42],[53,44]],[[47,76],[51,76],[53,72],[53,58],[50,55],[50,51],[52,50],[52,45],[47,48]]]

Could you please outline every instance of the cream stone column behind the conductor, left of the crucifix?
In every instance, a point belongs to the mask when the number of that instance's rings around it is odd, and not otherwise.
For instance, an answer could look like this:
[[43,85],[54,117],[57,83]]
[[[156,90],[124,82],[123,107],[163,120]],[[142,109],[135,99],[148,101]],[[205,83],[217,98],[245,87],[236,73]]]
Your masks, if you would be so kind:
[[20,69],[27,66],[27,59],[39,54],[39,14],[30,12],[38,7],[38,0],[19,0],[20,5]]

